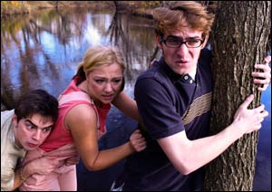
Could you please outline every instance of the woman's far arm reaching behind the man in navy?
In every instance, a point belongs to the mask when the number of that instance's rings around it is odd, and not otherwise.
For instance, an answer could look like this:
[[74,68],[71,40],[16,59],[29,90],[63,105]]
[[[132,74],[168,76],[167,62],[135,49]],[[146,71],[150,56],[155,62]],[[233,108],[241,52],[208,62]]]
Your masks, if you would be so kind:
[[134,120],[139,121],[139,113],[136,101],[132,100],[131,97],[124,91],[112,101],[112,104],[124,114],[131,117]]

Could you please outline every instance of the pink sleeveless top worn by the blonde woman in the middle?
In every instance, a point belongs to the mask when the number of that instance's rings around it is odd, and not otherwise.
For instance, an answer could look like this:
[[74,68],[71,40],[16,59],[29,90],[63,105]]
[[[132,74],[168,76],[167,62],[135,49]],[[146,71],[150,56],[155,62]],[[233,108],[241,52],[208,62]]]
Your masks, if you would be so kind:
[[94,105],[89,95],[81,91],[77,86],[76,82],[78,78],[73,79],[65,91],[60,95],[59,101],[59,116],[54,124],[54,128],[50,133],[49,137],[40,146],[44,151],[52,151],[58,149],[65,144],[73,142],[71,131],[66,130],[64,126],[64,118],[69,110],[78,104],[87,104],[92,107],[98,116],[97,129],[98,139],[106,133],[106,118],[109,110],[111,109],[110,104],[103,105],[102,108],[98,108]]

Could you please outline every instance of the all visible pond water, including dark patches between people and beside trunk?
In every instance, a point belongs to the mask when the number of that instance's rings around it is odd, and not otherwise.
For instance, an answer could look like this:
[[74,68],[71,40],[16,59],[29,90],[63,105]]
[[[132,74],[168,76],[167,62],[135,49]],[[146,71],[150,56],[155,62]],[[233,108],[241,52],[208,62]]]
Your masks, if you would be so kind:
[[[158,57],[152,21],[114,11],[47,10],[1,21],[1,110],[14,108],[24,91],[42,88],[57,97],[71,81],[88,47],[112,44],[127,63],[125,91],[133,97],[137,76]],[[271,85],[262,96],[269,118],[260,131],[254,190],[271,190]],[[112,108],[101,149],[129,139],[136,122]],[[91,172],[77,166],[79,190],[109,190],[124,161]]]

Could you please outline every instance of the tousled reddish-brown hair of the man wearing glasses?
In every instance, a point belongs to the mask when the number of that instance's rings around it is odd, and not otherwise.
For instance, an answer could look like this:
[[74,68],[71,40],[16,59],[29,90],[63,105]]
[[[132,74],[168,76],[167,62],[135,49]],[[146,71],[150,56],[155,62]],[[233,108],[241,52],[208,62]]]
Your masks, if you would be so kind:
[[170,34],[177,30],[190,28],[203,32],[203,37],[209,35],[214,14],[209,14],[206,8],[193,1],[178,1],[170,7],[158,7],[153,12],[156,34]]

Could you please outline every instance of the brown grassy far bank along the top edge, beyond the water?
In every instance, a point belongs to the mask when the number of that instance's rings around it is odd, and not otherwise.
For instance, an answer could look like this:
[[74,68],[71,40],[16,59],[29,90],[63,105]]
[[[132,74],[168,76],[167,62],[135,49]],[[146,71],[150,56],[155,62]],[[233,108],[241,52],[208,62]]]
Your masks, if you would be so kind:
[[160,6],[160,1],[1,1],[1,17],[15,14],[30,14],[43,9],[86,7],[90,9],[115,9],[152,18],[152,8]]

